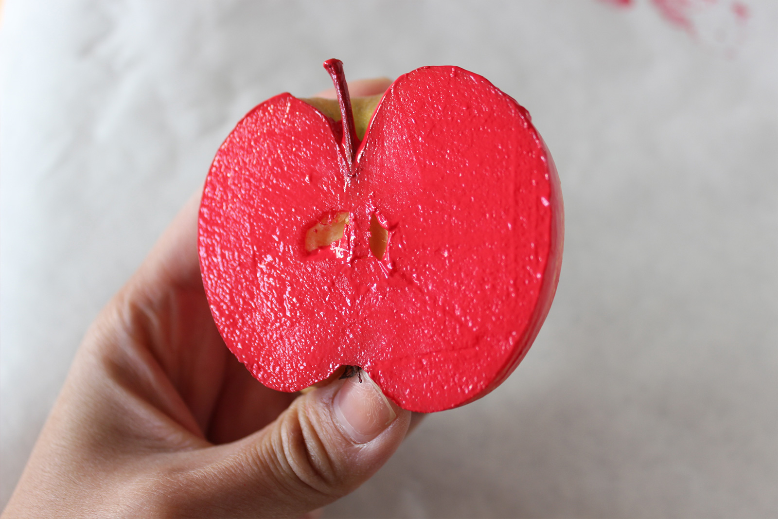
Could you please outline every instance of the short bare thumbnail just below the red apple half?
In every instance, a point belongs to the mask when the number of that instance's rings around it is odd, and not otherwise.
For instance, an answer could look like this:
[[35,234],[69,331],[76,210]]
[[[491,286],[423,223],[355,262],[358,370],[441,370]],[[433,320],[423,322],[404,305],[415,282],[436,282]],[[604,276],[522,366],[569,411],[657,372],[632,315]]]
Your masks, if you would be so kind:
[[397,418],[378,385],[364,371],[345,381],[335,395],[335,416],[342,429],[357,444],[377,437]]

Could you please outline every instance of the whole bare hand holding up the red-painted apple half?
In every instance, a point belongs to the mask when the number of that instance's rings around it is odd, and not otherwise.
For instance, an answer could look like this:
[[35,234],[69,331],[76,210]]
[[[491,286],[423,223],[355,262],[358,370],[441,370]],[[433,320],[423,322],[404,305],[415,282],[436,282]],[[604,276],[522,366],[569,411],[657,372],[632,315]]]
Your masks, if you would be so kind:
[[2,517],[300,517],[370,478],[421,418],[364,374],[303,395],[255,380],[205,299],[198,202],[87,331]]

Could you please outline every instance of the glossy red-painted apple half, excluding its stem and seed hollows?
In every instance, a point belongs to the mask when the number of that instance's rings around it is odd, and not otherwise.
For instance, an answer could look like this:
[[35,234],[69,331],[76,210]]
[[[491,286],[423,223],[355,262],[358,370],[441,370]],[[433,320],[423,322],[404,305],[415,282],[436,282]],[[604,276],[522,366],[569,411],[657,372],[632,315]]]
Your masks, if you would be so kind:
[[[545,320],[562,265],[562,191],[531,118],[454,66],[401,75],[349,166],[341,121],[283,93],[254,107],[205,181],[198,253],[227,347],[300,391],[361,366],[404,409],[492,391]],[[308,252],[307,230],[349,212]],[[370,253],[370,221],[387,229]]]

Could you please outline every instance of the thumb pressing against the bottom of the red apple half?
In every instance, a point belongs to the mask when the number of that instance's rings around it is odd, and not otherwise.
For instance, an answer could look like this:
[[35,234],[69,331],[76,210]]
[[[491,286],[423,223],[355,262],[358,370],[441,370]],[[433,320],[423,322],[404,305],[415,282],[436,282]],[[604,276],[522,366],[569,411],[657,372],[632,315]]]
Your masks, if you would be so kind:
[[[360,381],[361,378],[361,381]],[[190,517],[300,517],[370,478],[397,450],[411,420],[365,372],[297,398],[243,440],[211,447],[187,482]]]

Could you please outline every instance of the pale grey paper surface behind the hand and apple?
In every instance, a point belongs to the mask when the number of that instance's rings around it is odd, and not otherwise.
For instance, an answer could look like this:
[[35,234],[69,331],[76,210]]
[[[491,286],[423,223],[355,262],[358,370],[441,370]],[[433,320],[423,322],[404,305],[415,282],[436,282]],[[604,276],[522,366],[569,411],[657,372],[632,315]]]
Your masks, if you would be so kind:
[[233,124],[327,88],[337,57],[352,79],[460,65],[515,97],[566,244],[513,376],[325,515],[778,515],[778,4],[738,23],[731,3],[695,36],[648,0],[6,2],[0,506],[86,326]]

